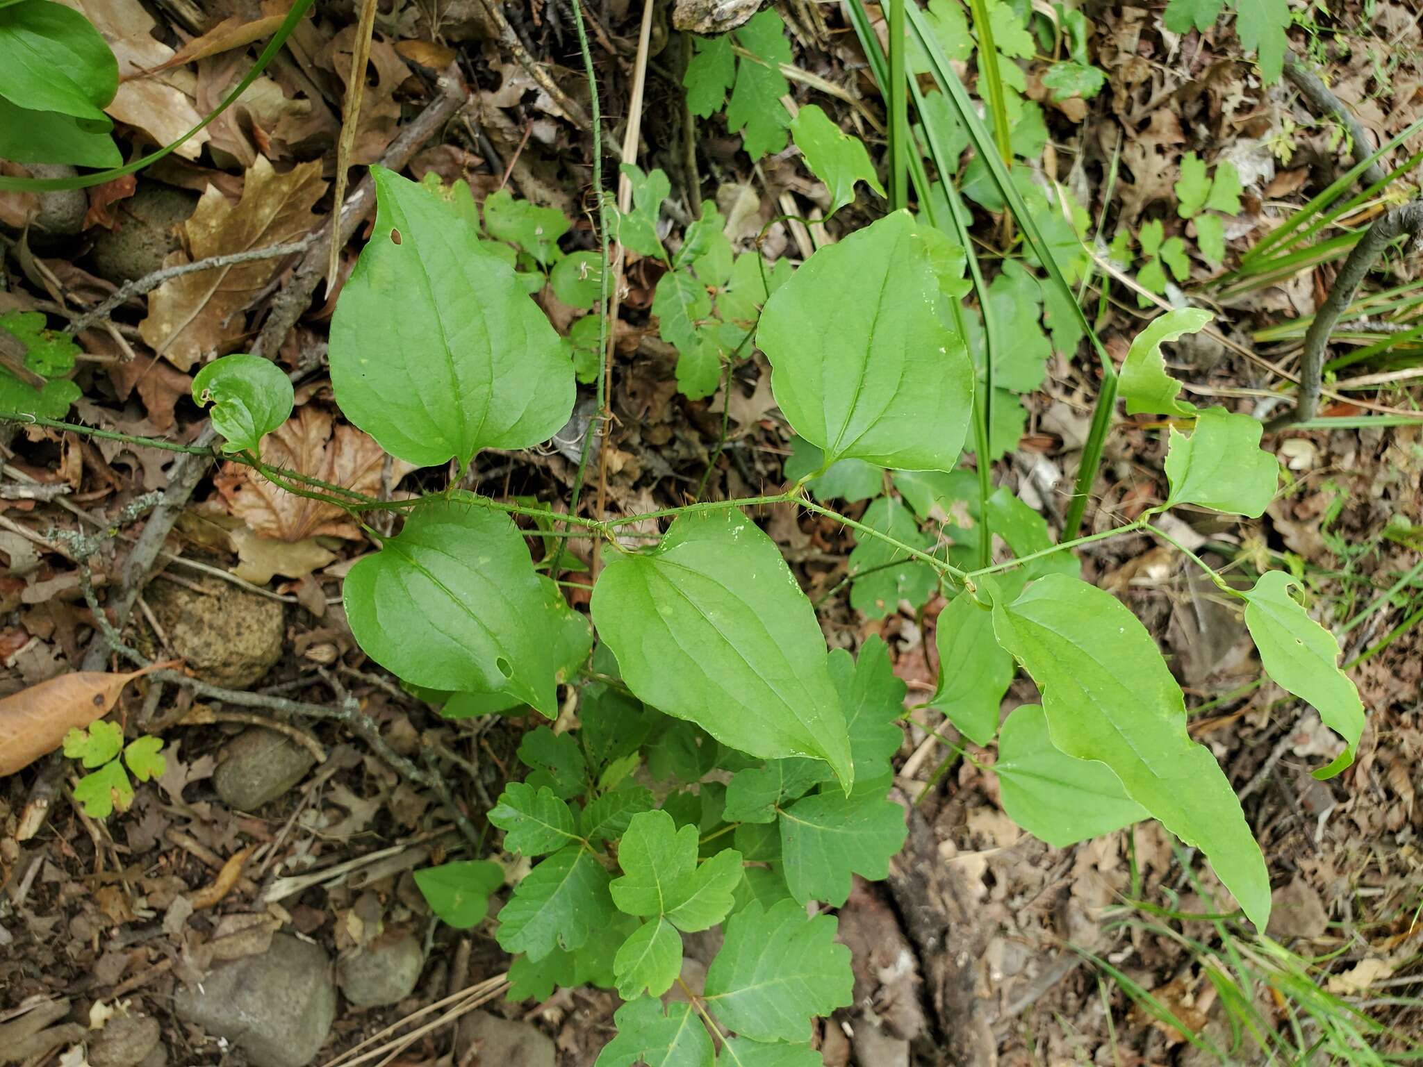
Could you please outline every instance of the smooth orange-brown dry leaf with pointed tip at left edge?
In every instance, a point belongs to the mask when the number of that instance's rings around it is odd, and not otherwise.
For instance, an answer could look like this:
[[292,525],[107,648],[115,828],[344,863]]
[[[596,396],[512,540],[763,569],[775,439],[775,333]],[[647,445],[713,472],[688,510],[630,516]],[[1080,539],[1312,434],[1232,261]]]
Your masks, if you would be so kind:
[[71,727],[83,730],[105,716],[134,679],[172,666],[155,663],[128,674],[78,670],[0,699],[0,777],[53,753]]

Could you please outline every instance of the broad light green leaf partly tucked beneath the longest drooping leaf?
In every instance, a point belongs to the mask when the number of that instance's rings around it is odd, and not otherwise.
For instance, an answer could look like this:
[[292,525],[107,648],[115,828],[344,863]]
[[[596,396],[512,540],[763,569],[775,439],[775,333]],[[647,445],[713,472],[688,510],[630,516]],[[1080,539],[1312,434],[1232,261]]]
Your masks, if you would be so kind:
[[1007,817],[1053,848],[1151,818],[1107,764],[1054,748],[1037,704],[1013,708],[1003,721],[993,771]]

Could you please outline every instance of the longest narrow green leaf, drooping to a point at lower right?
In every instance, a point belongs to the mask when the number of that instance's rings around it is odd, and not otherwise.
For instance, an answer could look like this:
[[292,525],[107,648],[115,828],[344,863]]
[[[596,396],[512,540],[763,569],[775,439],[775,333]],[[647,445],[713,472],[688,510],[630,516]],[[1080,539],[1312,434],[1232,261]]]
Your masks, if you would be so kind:
[[1185,697],[1137,617],[1111,593],[1047,575],[1012,603],[995,598],[993,632],[1037,683],[1053,744],[1107,764],[1128,797],[1205,854],[1265,929],[1259,845],[1215,757],[1187,734]]

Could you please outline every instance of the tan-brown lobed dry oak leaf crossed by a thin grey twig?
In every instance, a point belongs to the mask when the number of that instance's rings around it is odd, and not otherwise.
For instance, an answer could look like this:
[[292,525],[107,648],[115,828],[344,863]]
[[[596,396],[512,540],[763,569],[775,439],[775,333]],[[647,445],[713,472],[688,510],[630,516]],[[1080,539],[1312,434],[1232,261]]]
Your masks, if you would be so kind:
[[[233,206],[209,185],[192,218],[178,226],[186,255],[174,252],[164,262],[172,266],[303,238],[320,222],[312,206],[323,192],[320,161],[277,174],[258,156],[242,201]],[[169,279],[148,299],[148,317],[138,333],[178,370],[188,370],[243,337],[243,312],[280,266],[280,259],[256,259]]]

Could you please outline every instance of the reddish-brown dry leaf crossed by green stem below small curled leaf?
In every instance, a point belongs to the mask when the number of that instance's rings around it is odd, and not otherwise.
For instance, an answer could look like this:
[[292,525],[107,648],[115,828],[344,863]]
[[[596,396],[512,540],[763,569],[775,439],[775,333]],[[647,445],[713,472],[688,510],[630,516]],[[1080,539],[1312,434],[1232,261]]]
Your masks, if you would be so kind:
[[[327,411],[306,404],[283,425],[262,438],[262,461],[310,478],[379,497],[386,474],[386,452],[376,441],[351,425],[336,425]],[[416,469],[414,464],[391,460],[390,485]],[[334,504],[297,497],[269,482],[249,467],[228,464],[218,479],[232,514],[263,538],[303,541],[361,536],[346,512]]]

